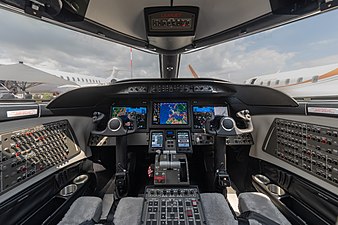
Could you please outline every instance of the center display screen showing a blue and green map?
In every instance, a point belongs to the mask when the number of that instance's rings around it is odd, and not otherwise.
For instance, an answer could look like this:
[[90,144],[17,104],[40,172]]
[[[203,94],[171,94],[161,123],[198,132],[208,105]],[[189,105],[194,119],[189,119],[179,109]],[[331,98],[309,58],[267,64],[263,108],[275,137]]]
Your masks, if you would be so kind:
[[188,124],[188,104],[186,102],[156,102],[153,105],[154,125]]

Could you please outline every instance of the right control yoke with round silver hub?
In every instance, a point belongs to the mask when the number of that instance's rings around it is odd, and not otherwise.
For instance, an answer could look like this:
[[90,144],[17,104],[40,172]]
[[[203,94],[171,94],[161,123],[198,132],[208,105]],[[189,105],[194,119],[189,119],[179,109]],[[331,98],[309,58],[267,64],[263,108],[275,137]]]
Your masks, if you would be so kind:
[[[247,128],[240,129],[237,127],[236,122],[233,118],[228,116],[215,117],[213,120],[207,120],[205,123],[205,129],[208,134],[225,137],[225,136],[236,136],[244,133],[251,133],[253,131],[253,125],[249,110],[242,110],[236,114],[237,117],[244,120]],[[216,125],[218,128],[215,130],[211,128],[211,124]]]

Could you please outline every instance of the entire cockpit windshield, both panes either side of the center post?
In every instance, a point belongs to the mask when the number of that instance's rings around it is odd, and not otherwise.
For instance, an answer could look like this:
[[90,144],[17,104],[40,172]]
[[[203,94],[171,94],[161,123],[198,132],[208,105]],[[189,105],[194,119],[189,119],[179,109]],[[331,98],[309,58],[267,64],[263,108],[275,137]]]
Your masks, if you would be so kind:
[[[338,12],[183,54],[179,77],[337,97]],[[159,78],[159,57],[0,9],[0,98],[50,100],[74,88]],[[189,69],[189,65],[191,69]],[[49,82],[48,82],[49,81]]]

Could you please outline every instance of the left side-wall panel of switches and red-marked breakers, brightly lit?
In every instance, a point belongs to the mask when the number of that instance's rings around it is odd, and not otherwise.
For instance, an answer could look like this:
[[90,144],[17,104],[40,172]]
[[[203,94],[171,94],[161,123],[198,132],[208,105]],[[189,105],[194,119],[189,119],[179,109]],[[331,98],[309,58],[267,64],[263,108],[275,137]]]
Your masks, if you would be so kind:
[[80,153],[67,120],[0,135],[0,193]]

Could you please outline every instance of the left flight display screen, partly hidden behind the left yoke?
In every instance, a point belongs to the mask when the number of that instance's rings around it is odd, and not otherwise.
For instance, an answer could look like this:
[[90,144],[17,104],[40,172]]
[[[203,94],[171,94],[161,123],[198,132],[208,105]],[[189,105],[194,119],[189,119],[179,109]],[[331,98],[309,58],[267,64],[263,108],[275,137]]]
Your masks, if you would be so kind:
[[124,127],[132,130],[133,124],[130,118],[134,114],[137,120],[137,127],[139,129],[147,128],[147,108],[146,107],[112,107],[112,117],[120,117],[123,121]]

